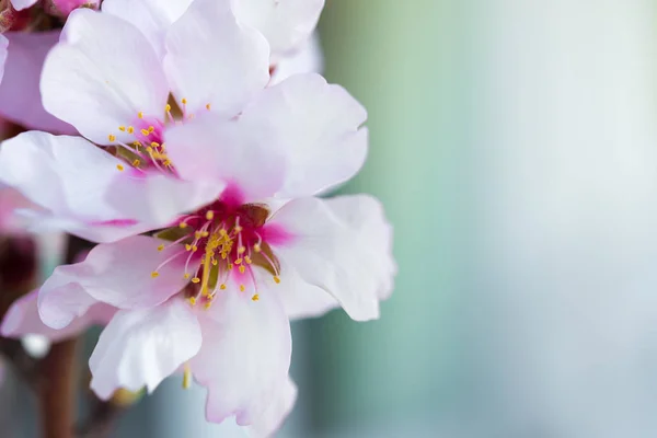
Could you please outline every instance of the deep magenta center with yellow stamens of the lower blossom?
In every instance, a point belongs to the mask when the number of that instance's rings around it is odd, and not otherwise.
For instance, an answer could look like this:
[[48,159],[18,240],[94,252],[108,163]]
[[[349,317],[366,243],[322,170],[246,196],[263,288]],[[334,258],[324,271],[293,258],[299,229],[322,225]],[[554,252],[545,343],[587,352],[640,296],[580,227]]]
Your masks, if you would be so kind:
[[[280,264],[270,244],[280,244],[288,234],[280,227],[268,224],[269,210],[264,205],[243,204],[238,192],[229,187],[215,203],[178,218],[177,226],[163,230],[158,237],[172,240],[170,245],[184,244],[155,270],[186,254],[184,277],[191,280],[185,290],[189,302],[203,302],[209,308],[216,295],[239,285],[240,292],[252,293],[257,301],[260,291],[256,268],[265,269],[276,284],[280,283]],[[158,250],[163,251],[162,244]],[[193,261],[200,258],[196,272],[189,272]],[[232,281],[230,281],[232,279]]]

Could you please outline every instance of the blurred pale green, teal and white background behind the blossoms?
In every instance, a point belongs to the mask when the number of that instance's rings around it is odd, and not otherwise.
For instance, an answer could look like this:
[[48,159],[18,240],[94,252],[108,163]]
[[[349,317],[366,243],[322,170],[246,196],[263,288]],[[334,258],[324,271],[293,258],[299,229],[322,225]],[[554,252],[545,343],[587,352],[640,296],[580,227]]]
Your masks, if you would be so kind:
[[[325,74],[370,115],[344,192],[383,200],[400,274],[380,321],[293,324],[280,437],[657,436],[656,19],[655,0],[327,0]],[[241,436],[203,396],[168,381],[116,436]],[[0,424],[33,436],[21,403]]]

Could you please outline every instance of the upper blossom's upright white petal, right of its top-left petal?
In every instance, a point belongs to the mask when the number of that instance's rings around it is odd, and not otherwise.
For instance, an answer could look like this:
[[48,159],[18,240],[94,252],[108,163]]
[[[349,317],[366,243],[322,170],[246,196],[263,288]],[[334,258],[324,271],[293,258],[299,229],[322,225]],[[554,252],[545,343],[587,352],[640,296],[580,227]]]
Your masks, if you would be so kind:
[[164,69],[192,113],[237,115],[269,81],[269,47],[238,24],[230,0],[196,0],[166,35]]

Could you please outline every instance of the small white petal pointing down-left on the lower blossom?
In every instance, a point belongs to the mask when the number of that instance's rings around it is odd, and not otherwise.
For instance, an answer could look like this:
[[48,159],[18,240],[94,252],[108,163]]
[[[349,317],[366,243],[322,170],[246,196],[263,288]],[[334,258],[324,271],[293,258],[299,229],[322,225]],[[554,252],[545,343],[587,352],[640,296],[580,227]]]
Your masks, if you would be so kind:
[[91,389],[102,400],[125,388],[153,391],[196,355],[200,327],[188,302],[173,299],[155,308],[122,310],[101,334],[89,359]]

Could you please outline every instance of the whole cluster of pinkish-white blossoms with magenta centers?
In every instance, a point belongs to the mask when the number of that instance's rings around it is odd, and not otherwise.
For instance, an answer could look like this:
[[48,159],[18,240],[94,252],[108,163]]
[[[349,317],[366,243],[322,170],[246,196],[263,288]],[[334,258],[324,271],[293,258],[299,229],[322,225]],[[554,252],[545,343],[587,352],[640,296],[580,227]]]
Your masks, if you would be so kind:
[[180,372],[208,420],[270,435],[297,392],[289,321],[376,319],[396,269],[381,204],[324,196],[368,149],[366,110],[316,72],[324,1],[34,3],[5,7],[64,26],[0,35],[0,116],[32,129],[0,146],[0,232],[96,245],[2,335],[102,324],[99,397]]

